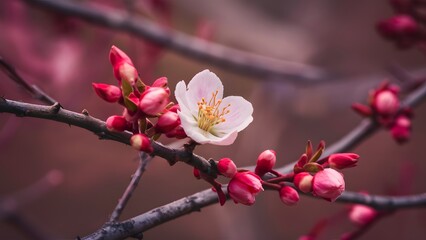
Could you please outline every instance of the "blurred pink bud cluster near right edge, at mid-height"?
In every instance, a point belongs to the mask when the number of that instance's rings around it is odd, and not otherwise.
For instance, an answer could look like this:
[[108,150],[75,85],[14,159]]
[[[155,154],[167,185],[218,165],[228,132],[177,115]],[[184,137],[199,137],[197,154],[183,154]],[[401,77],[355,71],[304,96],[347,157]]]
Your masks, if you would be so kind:
[[368,106],[355,103],[352,108],[364,117],[371,117],[390,130],[392,137],[399,143],[410,138],[412,112],[402,108],[399,98],[400,89],[388,82],[382,83],[370,92]]

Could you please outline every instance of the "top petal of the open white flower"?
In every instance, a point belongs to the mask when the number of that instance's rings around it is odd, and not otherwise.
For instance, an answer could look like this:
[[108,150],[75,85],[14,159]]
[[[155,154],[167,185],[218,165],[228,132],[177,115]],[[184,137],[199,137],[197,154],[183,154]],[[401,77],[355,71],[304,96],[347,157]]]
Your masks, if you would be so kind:
[[188,83],[187,101],[189,107],[195,108],[198,111],[197,103],[204,98],[207,102],[212,97],[212,94],[217,91],[216,99],[223,98],[223,85],[216,74],[206,69],[197,73]]

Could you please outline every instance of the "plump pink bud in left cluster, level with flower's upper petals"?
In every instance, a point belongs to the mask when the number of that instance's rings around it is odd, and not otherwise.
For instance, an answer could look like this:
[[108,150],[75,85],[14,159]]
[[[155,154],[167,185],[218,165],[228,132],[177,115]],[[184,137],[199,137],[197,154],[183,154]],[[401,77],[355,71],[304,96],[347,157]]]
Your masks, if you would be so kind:
[[139,109],[147,115],[161,113],[169,103],[169,94],[164,88],[151,87],[146,90],[139,103]]

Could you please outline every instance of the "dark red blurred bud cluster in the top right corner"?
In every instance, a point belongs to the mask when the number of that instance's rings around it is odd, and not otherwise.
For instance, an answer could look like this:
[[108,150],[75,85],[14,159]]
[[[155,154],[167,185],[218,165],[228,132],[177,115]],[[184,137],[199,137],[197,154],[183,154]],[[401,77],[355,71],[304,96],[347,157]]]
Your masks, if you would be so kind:
[[377,23],[377,31],[399,48],[425,44],[424,3],[415,0],[390,0],[395,15]]

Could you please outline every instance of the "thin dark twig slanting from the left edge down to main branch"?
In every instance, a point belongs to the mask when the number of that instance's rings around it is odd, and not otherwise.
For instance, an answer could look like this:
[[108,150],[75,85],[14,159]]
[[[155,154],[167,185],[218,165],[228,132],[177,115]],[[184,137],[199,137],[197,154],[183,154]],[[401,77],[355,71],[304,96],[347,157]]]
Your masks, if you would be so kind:
[[31,94],[31,96],[35,99],[38,99],[46,104],[54,104],[56,102],[55,99],[47,95],[43,90],[41,90],[36,85],[31,85],[27,81],[25,81],[19,74],[16,72],[15,68],[10,65],[3,57],[0,56],[0,69],[9,76],[16,84],[23,87],[27,92]]

